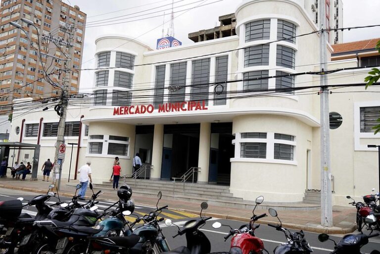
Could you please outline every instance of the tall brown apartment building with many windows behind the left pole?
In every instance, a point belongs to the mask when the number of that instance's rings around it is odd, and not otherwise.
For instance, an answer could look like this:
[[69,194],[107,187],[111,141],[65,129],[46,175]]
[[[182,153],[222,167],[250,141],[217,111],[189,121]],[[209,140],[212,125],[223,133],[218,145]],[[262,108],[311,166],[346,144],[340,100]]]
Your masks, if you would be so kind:
[[[20,18],[33,21],[36,27],[28,26]],[[12,26],[9,23],[11,21],[21,25],[28,36],[21,29]],[[74,26],[74,47],[68,54],[72,59],[70,68],[80,69],[85,23],[86,14],[80,11],[78,6],[69,6],[61,0],[2,1],[0,7],[0,110],[2,109],[2,112],[9,109],[4,105],[12,103],[14,99],[45,98],[59,94],[60,89],[50,85],[43,77],[54,72],[49,78],[52,82],[62,84],[64,73],[60,75],[59,70],[69,66],[65,66],[64,54],[53,42],[44,39],[44,36],[65,42],[68,39],[67,27]],[[33,47],[30,40],[33,42]],[[64,47],[62,51],[65,51]],[[70,80],[70,93],[78,93],[80,72],[72,71]]]

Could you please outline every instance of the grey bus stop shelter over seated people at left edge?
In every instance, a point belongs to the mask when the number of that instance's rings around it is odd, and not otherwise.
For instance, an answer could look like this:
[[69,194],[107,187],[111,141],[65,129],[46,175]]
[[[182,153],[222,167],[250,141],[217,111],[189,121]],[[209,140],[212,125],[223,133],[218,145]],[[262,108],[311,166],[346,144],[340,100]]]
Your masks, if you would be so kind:
[[[31,181],[37,181],[38,173],[38,161],[40,158],[40,145],[29,144],[29,143],[20,143],[20,142],[0,142],[1,152],[0,158],[8,157],[9,151],[14,150],[34,150],[33,153],[33,162],[32,162],[32,177]],[[9,162],[9,161],[8,161]]]

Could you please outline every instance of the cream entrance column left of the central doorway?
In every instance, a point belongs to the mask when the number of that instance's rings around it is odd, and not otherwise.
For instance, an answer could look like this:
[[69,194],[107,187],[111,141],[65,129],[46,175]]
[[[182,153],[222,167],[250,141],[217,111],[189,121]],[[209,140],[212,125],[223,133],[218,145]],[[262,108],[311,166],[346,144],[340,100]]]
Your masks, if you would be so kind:
[[152,165],[150,179],[161,179],[162,148],[164,143],[164,126],[162,124],[154,125]]

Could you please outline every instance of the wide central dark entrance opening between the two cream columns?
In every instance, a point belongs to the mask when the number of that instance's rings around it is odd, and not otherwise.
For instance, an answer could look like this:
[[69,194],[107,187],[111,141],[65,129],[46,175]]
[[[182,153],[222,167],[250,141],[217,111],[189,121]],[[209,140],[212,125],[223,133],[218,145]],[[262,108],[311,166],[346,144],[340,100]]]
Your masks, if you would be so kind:
[[164,126],[161,179],[181,177],[190,167],[198,166],[200,124]]

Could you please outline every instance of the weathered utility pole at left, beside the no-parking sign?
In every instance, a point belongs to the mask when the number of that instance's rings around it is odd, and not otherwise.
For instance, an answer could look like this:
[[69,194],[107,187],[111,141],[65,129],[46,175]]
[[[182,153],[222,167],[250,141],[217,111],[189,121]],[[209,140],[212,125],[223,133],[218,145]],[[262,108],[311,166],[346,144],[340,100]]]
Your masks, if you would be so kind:
[[[68,92],[69,92],[69,81],[70,81],[70,69],[71,69],[71,51],[73,48],[73,39],[74,39],[74,25],[66,23],[64,30],[68,34],[67,42],[62,42],[55,38],[52,38],[51,35],[48,36],[47,40],[52,41],[58,48],[62,48],[62,45],[65,45],[67,48],[67,52],[64,52],[66,56],[65,61],[65,76],[63,77],[63,87],[61,94],[61,103],[60,110],[57,110],[59,114],[59,123],[57,130],[57,142],[55,143],[55,155],[54,155],[54,168],[53,168],[53,181],[52,183],[55,185],[56,189],[59,190],[60,179],[62,178],[62,164],[64,157],[60,157],[59,155],[59,147],[64,144],[64,134],[65,134],[65,123],[66,123],[66,110],[68,105]],[[58,180],[58,185],[57,185]]]

